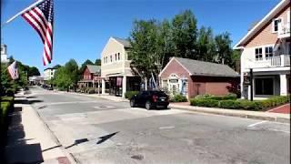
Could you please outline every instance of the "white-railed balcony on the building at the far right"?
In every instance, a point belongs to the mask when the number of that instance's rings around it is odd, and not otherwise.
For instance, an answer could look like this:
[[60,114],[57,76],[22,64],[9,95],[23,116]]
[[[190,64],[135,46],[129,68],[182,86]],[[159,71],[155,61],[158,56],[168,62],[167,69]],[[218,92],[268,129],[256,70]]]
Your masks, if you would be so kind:
[[248,68],[266,67],[288,67],[290,66],[290,55],[272,56],[261,59],[250,59]]

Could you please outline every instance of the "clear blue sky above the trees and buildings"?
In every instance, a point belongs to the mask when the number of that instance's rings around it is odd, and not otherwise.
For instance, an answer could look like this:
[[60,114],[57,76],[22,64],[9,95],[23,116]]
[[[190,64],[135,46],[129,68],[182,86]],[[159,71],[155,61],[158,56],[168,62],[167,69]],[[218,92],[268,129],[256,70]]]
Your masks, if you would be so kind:
[[[198,27],[211,26],[215,34],[229,32],[233,45],[249,26],[264,17],[280,0],[55,0],[54,59],[64,65],[74,58],[79,65],[85,59],[99,58],[110,36],[127,37],[135,19],[172,18],[191,9]],[[35,2],[4,0],[2,23]],[[42,73],[43,45],[35,30],[19,16],[1,29],[8,55]]]

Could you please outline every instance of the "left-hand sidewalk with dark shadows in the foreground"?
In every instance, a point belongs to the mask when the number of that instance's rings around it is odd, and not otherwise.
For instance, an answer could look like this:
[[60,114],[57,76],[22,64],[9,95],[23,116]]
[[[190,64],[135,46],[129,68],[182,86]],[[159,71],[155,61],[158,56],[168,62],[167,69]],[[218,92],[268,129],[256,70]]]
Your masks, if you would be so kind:
[[[17,103],[22,102],[22,103]],[[15,111],[7,134],[7,163],[69,164],[75,160],[65,152],[54,134],[22,94],[15,97]]]

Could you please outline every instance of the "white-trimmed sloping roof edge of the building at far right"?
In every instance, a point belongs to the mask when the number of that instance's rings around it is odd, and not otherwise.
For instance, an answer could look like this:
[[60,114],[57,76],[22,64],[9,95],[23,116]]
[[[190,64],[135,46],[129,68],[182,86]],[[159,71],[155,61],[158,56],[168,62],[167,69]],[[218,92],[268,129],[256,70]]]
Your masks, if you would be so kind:
[[243,48],[249,39],[255,36],[260,29],[266,26],[266,24],[268,24],[269,21],[272,20],[272,18],[278,13],[280,13],[280,11],[282,11],[282,9],[284,9],[287,5],[290,5],[290,0],[282,0],[279,4],[277,4],[260,22],[256,24],[256,26],[253,26],[251,30],[247,32],[246,36],[238,41],[236,46],[234,46],[234,49]]

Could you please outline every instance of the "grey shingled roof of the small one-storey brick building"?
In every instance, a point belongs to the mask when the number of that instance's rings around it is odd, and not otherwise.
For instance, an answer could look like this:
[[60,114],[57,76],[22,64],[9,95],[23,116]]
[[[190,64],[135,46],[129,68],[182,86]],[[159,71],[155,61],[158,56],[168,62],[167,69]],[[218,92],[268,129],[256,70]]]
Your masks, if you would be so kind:
[[227,65],[192,60],[188,58],[173,57],[182,67],[185,67],[191,76],[207,77],[239,77],[235,70]]

